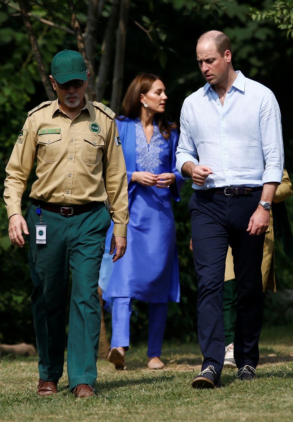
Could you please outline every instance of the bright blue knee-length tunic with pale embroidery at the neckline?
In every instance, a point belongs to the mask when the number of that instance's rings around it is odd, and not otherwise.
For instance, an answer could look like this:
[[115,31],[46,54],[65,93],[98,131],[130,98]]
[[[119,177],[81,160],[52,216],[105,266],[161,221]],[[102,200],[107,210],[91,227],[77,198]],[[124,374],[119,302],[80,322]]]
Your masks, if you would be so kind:
[[[184,180],[176,170],[178,132],[165,140],[154,124],[148,144],[139,119],[117,120],[128,173],[130,221],[127,250],[115,262],[103,297],[110,305],[115,297],[130,297],[150,303],[179,302],[179,266],[171,197],[179,201]],[[169,188],[130,182],[133,171],[174,173]],[[109,230],[110,231],[110,230]],[[108,242],[112,233],[107,234]]]

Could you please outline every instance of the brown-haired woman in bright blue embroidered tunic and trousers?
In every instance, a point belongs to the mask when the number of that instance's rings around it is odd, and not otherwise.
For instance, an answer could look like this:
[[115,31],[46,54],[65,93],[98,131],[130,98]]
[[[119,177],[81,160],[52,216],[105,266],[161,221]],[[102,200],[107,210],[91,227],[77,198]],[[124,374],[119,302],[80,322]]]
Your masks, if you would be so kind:
[[104,293],[112,308],[108,360],[117,369],[125,366],[133,299],[149,303],[148,366],[152,369],[164,367],[160,354],[168,301],[179,302],[171,197],[179,201],[184,181],[176,170],[179,136],[176,124],[168,123],[166,100],[160,77],[138,75],[123,100],[124,116],[117,119],[128,174],[130,213],[127,252],[123,260],[114,263]]

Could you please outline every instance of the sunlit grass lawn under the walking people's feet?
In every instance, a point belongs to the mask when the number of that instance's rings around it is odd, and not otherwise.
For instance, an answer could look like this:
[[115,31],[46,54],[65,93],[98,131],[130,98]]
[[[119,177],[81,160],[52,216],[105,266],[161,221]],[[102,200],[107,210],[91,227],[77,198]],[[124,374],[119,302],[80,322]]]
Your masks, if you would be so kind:
[[293,421],[293,325],[263,329],[257,379],[239,381],[231,369],[223,388],[193,390],[197,344],[165,342],[162,371],[146,367],[146,345],[132,347],[127,370],[99,360],[95,396],[76,399],[60,379],[57,395],[36,395],[36,358],[0,361],[0,421]]

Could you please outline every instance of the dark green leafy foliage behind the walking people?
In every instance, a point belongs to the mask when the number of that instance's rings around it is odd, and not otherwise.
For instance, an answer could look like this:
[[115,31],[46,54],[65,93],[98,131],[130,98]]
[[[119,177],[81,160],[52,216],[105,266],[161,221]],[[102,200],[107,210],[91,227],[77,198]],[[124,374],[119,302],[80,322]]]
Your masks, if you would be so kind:
[[[76,0],[76,9],[81,25],[87,16],[87,1]],[[16,3],[14,3],[16,4]],[[61,0],[30,2],[33,14],[52,19],[50,10],[63,21],[70,14]],[[46,6],[47,10],[43,8]],[[183,100],[204,84],[195,56],[196,40],[201,33],[217,29],[224,31],[232,41],[234,69],[245,76],[266,85],[275,93],[280,105],[285,145],[285,167],[293,174],[291,124],[292,107],[288,101],[288,82],[291,70],[293,43],[286,38],[274,22],[250,18],[250,7],[271,10],[271,0],[250,2],[236,0],[137,0],[130,2],[127,46],[125,53],[125,78],[123,91],[133,77],[142,71],[158,73],[167,84],[167,112],[179,123]],[[106,0],[96,46],[95,62],[100,62],[103,32],[111,10],[111,0]],[[77,49],[73,35],[31,19],[38,37],[48,75],[54,54],[62,49]],[[149,31],[152,40],[136,24]],[[57,24],[64,24],[55,22]],[[69,27],[69,26],[68,26]],[[22,129],[27,111],[46,100],[35,65],[29,39],[22,18],[9,6],[0,3],[0,175],[5,179],[5,165],[11,154],[17,135]],[[109,104],[111,75],[103,102]],[[247,157],[249,159],[249,157]],[[28,203],[32,172],[23,197],[23,209]],[[3,193],[3,184],[1,186]],[[190,181],[182,189],[182,199],[174,203],[179,251],[181,303],[171,303],[166,327],[166,338],[189,341],[196,338],[196,277],[192,254],[189,250],[190,219],[187,211],[192,193]],[[293,198],[287,201],[290,221],[293,221]],[[4,201],[0,203],[0,342],[34,342],[27,264],[27,245],[19,250],[10,245],[7,235],[7,216]],[[160,248],[158,248],[160,253]],[[276,245],[276,277],[278,289],[292,288],[293,265]],[[284,322],[276,314],[278,305],[269,297],[266,321]],[[137,303],[138,319],[133,321],[133,338],[147,336],[147,308]],[[278,317],[278,318],[277,318]],[[135,318],[133,318],[135,320]],[[108,318],[109,321],[109,318]]]

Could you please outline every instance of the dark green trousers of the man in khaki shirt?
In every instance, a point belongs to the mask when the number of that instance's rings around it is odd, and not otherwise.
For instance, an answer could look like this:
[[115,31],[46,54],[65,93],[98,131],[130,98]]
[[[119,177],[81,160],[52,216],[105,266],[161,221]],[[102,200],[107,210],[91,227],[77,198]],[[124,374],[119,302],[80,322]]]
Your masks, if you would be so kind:
[[43,210],[43,222],[48,225],[47,244],[36,245],[35,223],[39,218],[35,209],[30,207],[27,224],[40,378],[57,381],[63,373],[70,265],[73,287],[68,334],[69,386],[94,387],[100,334],[98,277],[110,217],[103,203],[69,217]]

